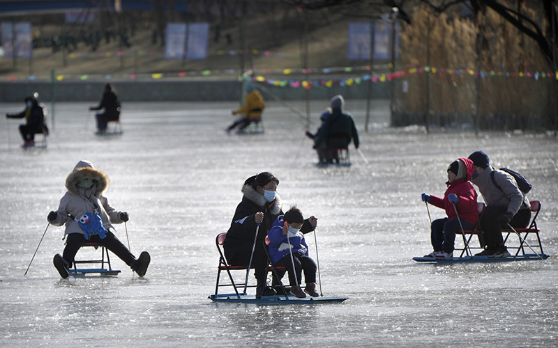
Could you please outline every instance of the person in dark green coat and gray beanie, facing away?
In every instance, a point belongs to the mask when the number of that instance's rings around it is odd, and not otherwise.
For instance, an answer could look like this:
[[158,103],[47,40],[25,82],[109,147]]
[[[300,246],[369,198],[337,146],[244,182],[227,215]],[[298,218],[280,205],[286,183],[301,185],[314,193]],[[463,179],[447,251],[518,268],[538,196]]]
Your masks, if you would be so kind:
[[315,149],[321,163],[339,161],[337,151],[330,149],[348,148],[351,139],[354,147],[359,148],[359,132],[354,125],[353,116],[343,110],[345,100],[342,95],[331,98],[331,116],[328,116],[315,139]]

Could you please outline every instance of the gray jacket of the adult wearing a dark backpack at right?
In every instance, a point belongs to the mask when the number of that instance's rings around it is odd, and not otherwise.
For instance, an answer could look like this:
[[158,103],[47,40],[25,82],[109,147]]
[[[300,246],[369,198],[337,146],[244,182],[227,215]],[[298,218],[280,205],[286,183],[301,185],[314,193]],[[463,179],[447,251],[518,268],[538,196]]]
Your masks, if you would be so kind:
[[[490,173],[495,171],[494,180],[502,189],[498,189],[492,182]],[[492,166],[486,167],[481,174],[471,180],[473,184],[476,184],[478,191],[481,191],[483,195],[483,200],[486,205],[494,205],[498,207],[508,207],[507,212],[515,215],[519,209],[528,208],[529,200],[527,195],[524,195],[518,188],[518,184],[515,182],[513,176],[509,175],[504,171],[499,171],[492,168]]]

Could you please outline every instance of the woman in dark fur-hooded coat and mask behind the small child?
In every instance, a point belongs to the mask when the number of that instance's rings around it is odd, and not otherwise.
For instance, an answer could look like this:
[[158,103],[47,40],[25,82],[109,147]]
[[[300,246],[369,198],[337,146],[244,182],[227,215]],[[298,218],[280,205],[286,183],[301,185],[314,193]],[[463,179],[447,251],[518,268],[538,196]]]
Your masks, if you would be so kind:
[[[282,200],[276,193],[279,180],[269,172],[259,173],[244,182],[241,189],[242,201],[236,207],[231,226],[223,243],[225,258],[232,266],[248,266],[256,228],[256,237],[252,265],[255,267],[257,280],[256,297],[271,296],[275,290],[266,287],[267,255],[264,250],[264,239],[277,217],[282,215]],[[313,230],[310,221],[306,220],[301,232]]]

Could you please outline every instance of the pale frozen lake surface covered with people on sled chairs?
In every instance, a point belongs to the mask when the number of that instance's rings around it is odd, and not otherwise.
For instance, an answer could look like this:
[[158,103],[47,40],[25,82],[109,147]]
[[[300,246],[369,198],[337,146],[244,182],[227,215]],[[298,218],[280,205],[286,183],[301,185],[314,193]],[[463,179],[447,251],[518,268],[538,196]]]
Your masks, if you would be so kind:
[[[94,102],[92,101],[91,104]],[[292,102],[301,111],[302,102]],[[56,104],[47,149],[22,150],[17,120],[0,133],[1,347],[551,347],[558,342],[558,141],[546,134],[435,132],[386,127],[389,102],[347,100],[365,164],[317,168],[306,120],[276,102],[263,135],[227,135],[238,103],[123,104],[123,135],[96,136],[86,103]],[[312,102],[310,130],[327,101]],[[1,104],[2,113],[21,104]],[[49,107],[50,109],[50,107]],[[541,200],[543,261],[418,264],[430,253],[421,193],[441,196],[446,169],[484,150],[524,174]],[[50,226],[66,175],[89,159],[111,180],[106,196],[130,214],[130,246],[151,253],[138,278],[112,255],[117,277],[61,279]],[[283,207],[319,219],[324,296],[344,303],[213,303],[215,237],[226,232],[251,175],[279,178]],[[430,207],[432,219],[444,216]],[[126,244],[126,230],[116,226]],[[310,255],[315,242],[308,235]],[[459,239],[456,244],[461,245]],[[86,257],[80,251],[77,257]],[[250,291],[254,291],[253,289]]]

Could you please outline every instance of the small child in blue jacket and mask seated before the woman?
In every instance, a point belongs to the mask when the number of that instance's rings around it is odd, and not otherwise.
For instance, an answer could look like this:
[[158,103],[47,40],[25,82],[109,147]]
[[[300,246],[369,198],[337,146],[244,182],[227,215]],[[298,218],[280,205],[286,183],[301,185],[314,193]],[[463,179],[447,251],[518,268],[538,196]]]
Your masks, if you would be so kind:
[[[315,228],[317,219],[310,216],[308,221]],[[306,292],[312,297],[319,296],[316,292],[316,263],[308,256],[308,245],[304,240],[301,228],[304,224],[302,213],[296,207],[291,207],[285,215],[278,216],[273,227],[267,233],[269,237],[269,255],[276,267],[286,267],[289,272],[291,294],[305,298]],[[291,258],[292,255],[292,258]],[[295,271],[293,271],[293,264]],[[301,277],[304,270],[306,287],[301,290]]]

